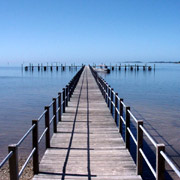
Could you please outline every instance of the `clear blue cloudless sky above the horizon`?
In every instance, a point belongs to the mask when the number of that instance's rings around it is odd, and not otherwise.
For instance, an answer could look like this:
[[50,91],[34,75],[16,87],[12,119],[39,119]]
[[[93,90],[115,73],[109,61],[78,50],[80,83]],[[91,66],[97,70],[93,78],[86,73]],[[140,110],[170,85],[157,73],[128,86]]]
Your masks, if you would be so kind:
[[1,0],[0,63],[180,60],[180,0]]

